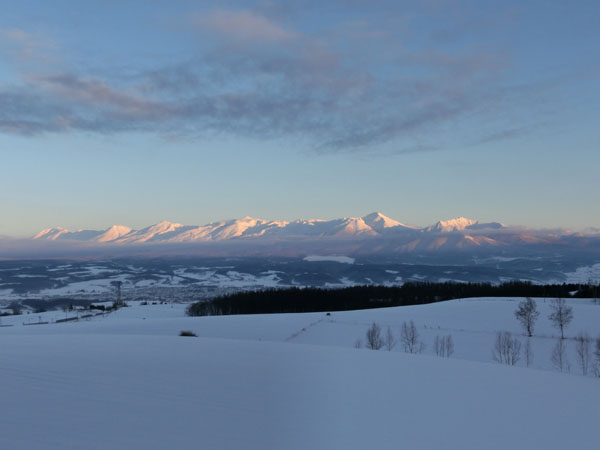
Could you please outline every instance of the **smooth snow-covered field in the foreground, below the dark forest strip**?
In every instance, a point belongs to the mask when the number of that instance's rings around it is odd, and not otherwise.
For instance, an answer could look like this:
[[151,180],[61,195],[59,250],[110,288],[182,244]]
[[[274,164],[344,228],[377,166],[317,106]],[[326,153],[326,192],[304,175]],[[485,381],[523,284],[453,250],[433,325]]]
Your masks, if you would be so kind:
[[[534,369],[492,362],[495,332],[521,333],[518,301],[202,318],[135,304],[31,326],[65,313],[2,317],[0,448],[597,448],[600,380],[579,375],[572,339],[571,373],[553,370],[549,301],[538,300]],[[600,305],[568,302],[567,336],[599,335]],[[399,335],[405,320],[423,354],[353,348],[373,321]],[[435,357],[446,334],[455,354]]]

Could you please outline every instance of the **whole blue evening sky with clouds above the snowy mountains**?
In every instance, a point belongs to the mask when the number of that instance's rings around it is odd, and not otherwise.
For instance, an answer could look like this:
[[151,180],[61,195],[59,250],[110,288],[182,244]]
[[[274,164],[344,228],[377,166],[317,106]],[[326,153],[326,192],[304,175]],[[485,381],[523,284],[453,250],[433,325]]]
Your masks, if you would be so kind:
[[0,235],[600,227],[596,0],[0,4]]

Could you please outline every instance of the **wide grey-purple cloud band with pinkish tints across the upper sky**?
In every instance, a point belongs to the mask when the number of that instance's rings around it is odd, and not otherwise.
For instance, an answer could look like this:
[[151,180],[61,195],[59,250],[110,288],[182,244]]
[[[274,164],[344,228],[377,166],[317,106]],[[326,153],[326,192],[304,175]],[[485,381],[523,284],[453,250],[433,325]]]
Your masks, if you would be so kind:
[[[128,78],[39,70],[0,85],[0,132],[226,133],[289,137],[335,152],[395,140],[431,148],[417,138],[472,113],[497,71],[493,55],[429,48],[395,52],[380,64],[379,56],[352,57],[327,36],[247,10],[209,11],[191,22],[210,45],[188,61]],[[34,47],[25,34],[9,38]]]

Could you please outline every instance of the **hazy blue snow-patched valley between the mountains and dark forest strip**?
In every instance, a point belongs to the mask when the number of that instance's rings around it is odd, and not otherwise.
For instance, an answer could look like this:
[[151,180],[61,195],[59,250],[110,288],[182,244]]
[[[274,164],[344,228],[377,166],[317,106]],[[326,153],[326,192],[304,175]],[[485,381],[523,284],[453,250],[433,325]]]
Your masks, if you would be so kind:
[[[0,301],[54,297],[109,300],[122,283],[125,299],[193,301],[243,289],[289,286],[399,285],[410,281],[538,284],[595,283],[600,263],[575,258],[431,255],[307,258],[122,258],[99,261],[0,261]],[[331,260],[333,259],[333,260]],[[588,265],[582,265],[587,262]]]

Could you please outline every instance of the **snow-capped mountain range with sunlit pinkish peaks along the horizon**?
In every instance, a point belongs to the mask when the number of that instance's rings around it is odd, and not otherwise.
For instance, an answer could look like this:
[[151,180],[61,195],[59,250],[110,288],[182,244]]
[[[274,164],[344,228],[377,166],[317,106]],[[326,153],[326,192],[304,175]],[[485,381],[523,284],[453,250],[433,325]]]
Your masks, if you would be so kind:
[[193,248],[205,256],[298,256],[315,252],[332,255],[404,254],[440,251],[501,255],[507,251],[568,253],[592,250],[597,246],[598,240],[597,234],[574,233],[565,229],[536,230],[507,226],[500,222],[479,222],[465,217],[442,220],[419,228],[376,212],[364,217],[298,219],[292,222],[243,217],[202,226],[163,221],[140,230],[122,225],[114,225],[106,230],[70,231],[49,228],[29,240],[28,245],[51,242],[54,247],[48,248],[76,249],[78,244],[85,244],[87,249],[111,249],[125,253],[140,251],[144,247],[168,247],[174,253],[186,253]]

